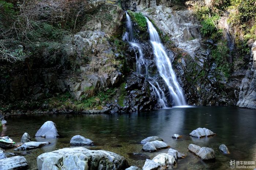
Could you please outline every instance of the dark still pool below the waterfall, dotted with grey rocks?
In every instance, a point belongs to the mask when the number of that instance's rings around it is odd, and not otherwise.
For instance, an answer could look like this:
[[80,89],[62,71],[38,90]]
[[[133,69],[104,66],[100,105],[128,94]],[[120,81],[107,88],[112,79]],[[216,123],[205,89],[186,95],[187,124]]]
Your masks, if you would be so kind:
[[[34,141],[48,141],[50,145],[31,150],[25,155],[29,169],[37,169],[36,158],[44,152],[70,147],[74,135],[82,135],[94,141],[89,149],[102,149],[124,156],[130,165],[142,167],[145,160],[131,157],[130,153],[143,153],[151,159],[167,149],[156,152],[142,151],[139,142],[148,136],[159,136],[170,148],[187,155],[179,159],[174,169],[230,169],[230,160],[256,161],[256,111],[236,107],[189,107],[159,109],[146,113],[113,114],[113,115],[22,115],[6,119],[2,136],[8,135],[15,142],[21,140],[24,132],[29,133]],[[62,137],[54,139],[34,138],[41,125],[51,120],[57,125]],[[212,130],[217,135],[208,138],[193,138],[189,133],[199,127]],[[181,139],[173,139],[179,134]],[[216,152],[215,162],[204,162],[188,151],[190,143],[201,147],[213,148]],[[229,155],[219,152],[220,144],[225,144]],[[12,149],[6,152],[15,152]]]

